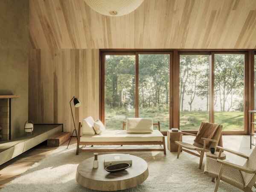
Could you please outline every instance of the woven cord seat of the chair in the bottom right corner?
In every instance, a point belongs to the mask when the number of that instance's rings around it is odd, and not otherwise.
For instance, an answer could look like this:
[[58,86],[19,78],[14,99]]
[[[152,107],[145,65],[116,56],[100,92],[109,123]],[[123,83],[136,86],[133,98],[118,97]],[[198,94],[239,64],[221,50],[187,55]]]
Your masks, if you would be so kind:
[[[217,160],[206,157],[205,166],[204,166],[204,173],[211,177],[218,177],[218,174],[221,169],[221,163],[218,163]],[[233,167],[224,166],[221,180],[229,180],[232,183],[236,183],[242,187],[245,186],[243,181],[243,176],[238,169]]]

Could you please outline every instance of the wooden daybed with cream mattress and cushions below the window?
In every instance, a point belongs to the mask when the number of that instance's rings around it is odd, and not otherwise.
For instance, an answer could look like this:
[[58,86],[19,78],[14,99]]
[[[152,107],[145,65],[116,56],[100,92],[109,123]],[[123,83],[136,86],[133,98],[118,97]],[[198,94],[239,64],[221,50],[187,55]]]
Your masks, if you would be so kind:
[[[81,137],[78,137],[76,154],[85,151],[164,151],[164,154],[166,154],[165,138],[160,132],[160,122],[153,124],[151,119],[151,133],[128,133],[128,130],[136,132],[133,131],[134,128],[141,125],[148,126],[148,122],[150,122],[150,120],[144,118],[130,118],[129,120],[127,130],[124,130],[126,124],[123,123],[123,130],[106,130],[102,135],[93,134],[92,125],[94,120],[92,117],[87,117],[82,123],[79,122],[78,135],[81,135]],[[158,125],[158,130],[153,130],[153,125]],[[163,145],[163,148],[82,149],[79,148],[79,145]]]

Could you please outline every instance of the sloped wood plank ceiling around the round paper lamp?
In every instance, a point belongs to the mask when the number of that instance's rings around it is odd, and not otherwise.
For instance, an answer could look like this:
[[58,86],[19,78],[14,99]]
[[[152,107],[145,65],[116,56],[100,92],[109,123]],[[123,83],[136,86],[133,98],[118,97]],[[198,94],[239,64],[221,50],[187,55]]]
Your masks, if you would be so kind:
[[144,0],[108,17],[84,0],[29,0],[32,49],[256,49],[256,0]]

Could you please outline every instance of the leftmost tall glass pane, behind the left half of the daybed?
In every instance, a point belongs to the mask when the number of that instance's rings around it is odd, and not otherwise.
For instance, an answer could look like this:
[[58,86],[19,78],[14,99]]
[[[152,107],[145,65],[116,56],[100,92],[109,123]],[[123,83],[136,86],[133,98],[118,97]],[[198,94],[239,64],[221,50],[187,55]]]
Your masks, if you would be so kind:
[[135,117],[135,55],[105,57],[105,126],[122,129],[127,117]]

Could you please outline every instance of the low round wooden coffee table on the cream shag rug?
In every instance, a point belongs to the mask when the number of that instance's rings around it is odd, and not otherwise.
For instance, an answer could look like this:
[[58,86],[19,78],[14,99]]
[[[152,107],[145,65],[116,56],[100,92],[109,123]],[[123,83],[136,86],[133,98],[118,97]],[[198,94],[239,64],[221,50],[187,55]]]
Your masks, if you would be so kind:
[[148,178],[148,164],[140,157],[131,155],[132,166],[122,172],[109,173],[105,170],[105,154],[99,155],[99,168],[93,168],[94,157],[84,160],[76,170],[76,181],[80,185],[99,191],[128,189],[143,183]]

